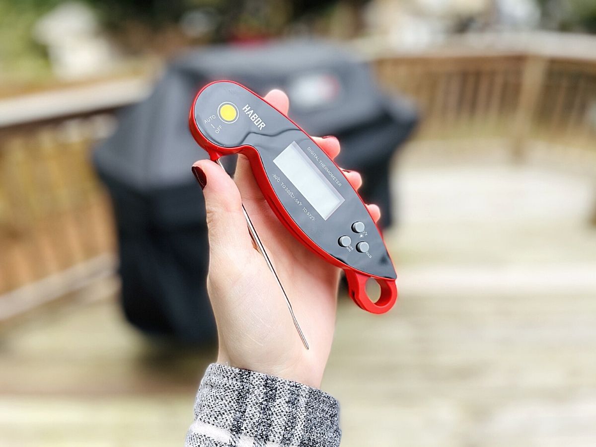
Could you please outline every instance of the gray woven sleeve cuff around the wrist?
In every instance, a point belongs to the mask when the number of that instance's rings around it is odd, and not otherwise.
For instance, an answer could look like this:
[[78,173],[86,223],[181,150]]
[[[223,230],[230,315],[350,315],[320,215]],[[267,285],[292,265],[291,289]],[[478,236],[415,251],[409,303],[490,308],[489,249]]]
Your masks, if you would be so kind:
[[341,436],[339,405],[327,393],[212,364],[198,389],[186,447],[334,447]]

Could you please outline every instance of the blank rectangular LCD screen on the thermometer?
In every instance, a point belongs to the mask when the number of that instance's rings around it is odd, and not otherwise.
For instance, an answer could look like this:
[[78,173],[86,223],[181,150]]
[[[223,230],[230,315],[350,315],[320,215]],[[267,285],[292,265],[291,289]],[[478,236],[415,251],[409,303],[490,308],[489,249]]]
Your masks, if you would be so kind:
[[345,200],[296,141],[292,141],[273,162],[325,221]]

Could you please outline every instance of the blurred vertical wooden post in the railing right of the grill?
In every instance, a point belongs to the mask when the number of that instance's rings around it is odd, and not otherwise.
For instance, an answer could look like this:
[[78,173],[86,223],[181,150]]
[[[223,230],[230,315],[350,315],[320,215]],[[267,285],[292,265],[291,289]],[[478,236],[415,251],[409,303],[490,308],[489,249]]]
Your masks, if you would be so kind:
[[544,86],[548,60],[542,56],[528,56],[523,64],[520,96],[513,122],[511,149],[515,162],[523,161],[527,138],[532,127],[532,120],[538,98]]

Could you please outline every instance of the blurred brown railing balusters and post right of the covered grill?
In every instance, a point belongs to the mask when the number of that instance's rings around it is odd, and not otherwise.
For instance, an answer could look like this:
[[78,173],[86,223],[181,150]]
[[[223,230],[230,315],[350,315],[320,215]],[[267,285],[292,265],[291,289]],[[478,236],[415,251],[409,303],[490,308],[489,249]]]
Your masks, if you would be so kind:
[[383,85],[420,107],[418,138],[498,137],[515,159],[529,140],[596,150],[596,59],[425,55],[375,64]]

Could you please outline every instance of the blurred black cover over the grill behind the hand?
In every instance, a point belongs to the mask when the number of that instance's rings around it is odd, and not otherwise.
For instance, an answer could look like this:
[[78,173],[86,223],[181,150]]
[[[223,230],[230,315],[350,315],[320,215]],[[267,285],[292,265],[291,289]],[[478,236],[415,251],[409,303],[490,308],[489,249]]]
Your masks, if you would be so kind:
[[198,90],[219,79],[259,95],[281,88],[306,132],[337,136],[339,165],[362,173],[361,195],[380,205],[383,226],[392,216],[390,158],[417,122],[408,103],[377,90],[367,64],[326,42],[211,46],[170,64],[150,97],[121,111],[94,164],[114,204],[126,317],[187,342],[215,336],[204,203],[190,170],[206,153],[188,131],[188,110]]

